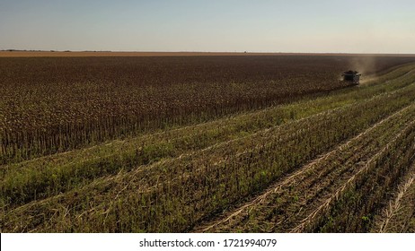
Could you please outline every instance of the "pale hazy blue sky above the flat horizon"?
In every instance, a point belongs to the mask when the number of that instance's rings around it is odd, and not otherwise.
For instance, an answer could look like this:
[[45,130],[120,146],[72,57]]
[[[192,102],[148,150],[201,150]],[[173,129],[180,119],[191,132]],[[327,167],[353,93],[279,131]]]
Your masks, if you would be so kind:
[[415,1],[0,0],[0,49],[415,53]]

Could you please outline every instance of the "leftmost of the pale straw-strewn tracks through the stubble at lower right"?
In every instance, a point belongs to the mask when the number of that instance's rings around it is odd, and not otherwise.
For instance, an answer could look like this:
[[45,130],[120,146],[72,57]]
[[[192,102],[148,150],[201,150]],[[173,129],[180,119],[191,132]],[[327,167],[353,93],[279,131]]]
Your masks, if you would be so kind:
[[[414,108],[414,106],[408,106],[406,108],[402,108],[401,110],[395,112],[393,115],[389,117],[385,117],[383,120],[377,122],[375,125],[373,125],[370,128],[367,128],[364,132],[358,134],[357,136],[349,139],[346,143],[341,144],[340,146],[336,147],[334,150],[329,151],[322,155],[320,158],[317,158],[316,160],[313,160],[309,164],[305,165],[302,169],[296,170],[293,174],[289,175],[288,177],[283,178],[280,182],[277,184],[269,187],[269,189],[263,193],[262,195],[258,195],[254,199],[252,199],[251,202],[245,203],[242,206],[238,207],[234,211],[230,213],[226,213],[225,215],[221,216],[216,221],[210,222],[205,226],[201,226],[196,229],[196,231],[208,231],[209,229],[214,229],[216,226],[223,224],[225,222],[231,221],[232,219],[238,217],[239,214],[242,214],[243,212],[247,212],[258,206],[260,203],[264,203],[269,195],[278,194],[281,193],[284,187],[291,186],[298,184],[301,182],[304,178],[320,178],[320,177],[314,177],[315,176],[315,170],[318,169],[319,165],[322,164],[323,161],[328,160],[332,156],[341,156],[342,152],[345,151],[352,143],[358,142],[361,138],[366,136],[367,134],[370,134],[372,131],[374,131],[377,127],[380,125],[383,125],[384,123],[393,120],[395,117],[400,117],[405,111],[408,111],[409,109]],[[363,148],[360,146],[360,148]],[[350,158],[352,158],[351,156]],[[340,173],[341,174],[341,173]]]

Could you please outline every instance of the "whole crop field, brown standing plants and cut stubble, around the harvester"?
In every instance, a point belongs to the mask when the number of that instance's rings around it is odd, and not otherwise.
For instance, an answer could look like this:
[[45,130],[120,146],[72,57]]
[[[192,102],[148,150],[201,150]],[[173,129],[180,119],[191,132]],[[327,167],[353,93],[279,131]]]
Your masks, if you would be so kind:
[[415,56],[0,56],[0,86],[1,232],[415,232]]

